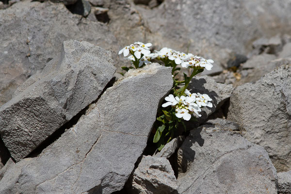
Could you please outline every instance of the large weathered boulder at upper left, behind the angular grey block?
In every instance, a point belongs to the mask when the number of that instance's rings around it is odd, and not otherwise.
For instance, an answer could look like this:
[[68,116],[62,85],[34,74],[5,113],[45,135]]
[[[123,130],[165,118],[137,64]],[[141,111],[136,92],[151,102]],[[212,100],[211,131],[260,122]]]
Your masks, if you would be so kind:
[[119,46],[108,27],[70,13],[62,3],[23,0],[0,10],[0,105],[28,77],[61,51],[63,41],[84,40],[104,49]]

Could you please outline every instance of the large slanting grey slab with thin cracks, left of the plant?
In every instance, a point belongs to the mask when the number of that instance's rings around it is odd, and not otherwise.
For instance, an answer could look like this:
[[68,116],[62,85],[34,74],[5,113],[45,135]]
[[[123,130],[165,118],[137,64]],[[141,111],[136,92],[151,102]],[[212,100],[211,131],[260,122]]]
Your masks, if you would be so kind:
[[0,193],[111,194],[122,189],[172,84],[168,67],[152,64],[130,71],[38,157],[10,168],[0,180]]

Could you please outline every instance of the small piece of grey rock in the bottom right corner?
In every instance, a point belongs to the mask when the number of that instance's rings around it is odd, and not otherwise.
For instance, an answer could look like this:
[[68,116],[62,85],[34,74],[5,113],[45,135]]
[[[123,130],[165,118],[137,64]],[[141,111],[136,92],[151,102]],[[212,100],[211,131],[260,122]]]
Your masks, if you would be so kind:
[[291,193],[291,171],[278,173],[278,194]]

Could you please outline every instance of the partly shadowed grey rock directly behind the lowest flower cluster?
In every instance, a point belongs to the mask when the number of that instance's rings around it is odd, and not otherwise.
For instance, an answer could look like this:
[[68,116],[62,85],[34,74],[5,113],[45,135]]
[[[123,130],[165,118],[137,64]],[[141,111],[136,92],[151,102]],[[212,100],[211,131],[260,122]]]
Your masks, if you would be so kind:
[[233,90],[230,84],[217,83],[208,76],[193,78],[188,89],[192,93],[208,94],[212,99],[212,108],[204,107],[201,109],[202,116],[198,118],[199,123],[204,122],[211,113],[218,110],[229,99]]

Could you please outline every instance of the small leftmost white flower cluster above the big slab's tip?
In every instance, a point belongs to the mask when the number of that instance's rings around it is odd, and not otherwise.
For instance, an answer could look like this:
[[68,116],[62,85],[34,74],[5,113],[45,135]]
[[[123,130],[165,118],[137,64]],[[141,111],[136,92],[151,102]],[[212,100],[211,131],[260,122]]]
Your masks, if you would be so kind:
[[151,47],[151,46],[152,46],[151,43],[144,44],[142,42],[135,42],[135,43],[133,43],[129,46],[126,46],[125,48],[119,50],[118,54],[123,53],[123,56],[126,57],[129,55],[129,53],[133,53],[137,59],[140,59],[142,54],[144,56],[148,56],[150,54],[150,50],[148,47]]

